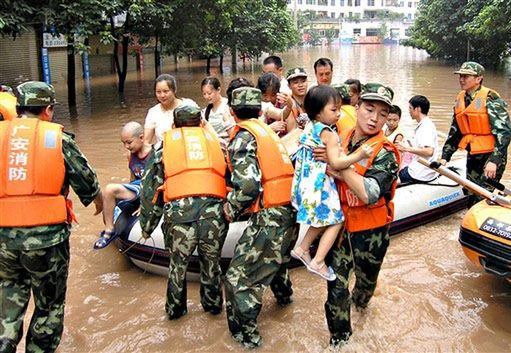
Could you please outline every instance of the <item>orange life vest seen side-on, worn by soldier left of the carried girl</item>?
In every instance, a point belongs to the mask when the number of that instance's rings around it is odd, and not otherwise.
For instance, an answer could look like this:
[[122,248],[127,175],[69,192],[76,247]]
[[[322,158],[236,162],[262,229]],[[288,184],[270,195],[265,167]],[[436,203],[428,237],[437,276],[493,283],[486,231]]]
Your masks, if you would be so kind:
[[[257,160],[262,174],[263,208],[289,204],[291,202],[291,184],[293,183],[294,169],[286,148],[279,137],[267,124],[258,119],[239,122],[234,127],[233,136],[236,136],[240,129],[247,130],[256,139]],[[247,212],[260,211],[260,199],[261,195]]]

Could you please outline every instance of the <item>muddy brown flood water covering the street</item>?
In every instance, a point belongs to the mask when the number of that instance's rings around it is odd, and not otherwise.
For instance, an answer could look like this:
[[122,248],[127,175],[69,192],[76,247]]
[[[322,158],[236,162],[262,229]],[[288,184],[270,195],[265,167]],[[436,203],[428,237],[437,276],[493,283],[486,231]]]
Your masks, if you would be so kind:
[[[315,81],[313,63],[319,57],[334,62],[334,82],[359,78],[382,82],[395,91],[403,110],[402,123],[413,127],[408,99],[427,96],[430,116],[445,140],[459,85],[454,67],[428,58],[423,51],[399,46],[343,46],[297,49],[282,54],[286,68],[303,66]],[[170,62],[170,60],[169,60]],[[205,63],[183,60],[174,74],[178,94],[201,106],[200,81]],[[259,64],[229,67],[225,86],[238,76],[253,82]],[[216,70],[216,68],[214,68]],[[509,73],[487,72],[484,83],[511,102]],[[128,77],[126,103],[117,97],[115,78],[93,78],[90,86],[78,83],[78,118],[69,119],[67,107],[58,107],[57,122],[76,134],[76,141],[96,168],[101,185],[128,181],[125,151],[119,131],[128,121],[143,123],[156,103],[153,70]],[[65,102],[65,87],[57,86]],[[504,181],[511,183],[511,168]],[[205,314],[197,283],[188,285],[189,314],[178,321],[166,319],[166,278],[144,273],[115,246],[94,251],[92,243],[102,229],[93,207],[85,209],[73,196],[79,225],[71,236],[65,331],[59,352],[237,352],[244,351],[229,335],[225,313]],[[376,294],[363,315],[353,313],[354,334],[343,352],[510,352],[511,284],[482,273],[463,255],[458,229],[464,212],[394,237],[380,274]],[[279,308],[267,292],[261,315],[260,352],[329,351],[324,317],[326,283],[304,268],[291,270],[294,303]],[[32,310],[32,309],[30,309]],[[20,346],[20,351],[21,351]]]

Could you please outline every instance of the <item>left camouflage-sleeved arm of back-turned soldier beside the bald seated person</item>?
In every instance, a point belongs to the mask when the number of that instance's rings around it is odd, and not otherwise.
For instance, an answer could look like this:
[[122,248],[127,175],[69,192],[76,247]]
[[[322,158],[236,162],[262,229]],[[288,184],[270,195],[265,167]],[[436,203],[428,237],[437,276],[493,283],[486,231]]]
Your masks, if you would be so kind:
[[148,157],[144,175],[142,177],[142,188],[140,190],[140,226],[142,234],[150,235],[158,226],[163,214],[163,193],[159,193],[156,200],[153,199],[158,192],[157,189],[164,183],[164,170],[162,163],[162,144],[155,145],[155,151]]

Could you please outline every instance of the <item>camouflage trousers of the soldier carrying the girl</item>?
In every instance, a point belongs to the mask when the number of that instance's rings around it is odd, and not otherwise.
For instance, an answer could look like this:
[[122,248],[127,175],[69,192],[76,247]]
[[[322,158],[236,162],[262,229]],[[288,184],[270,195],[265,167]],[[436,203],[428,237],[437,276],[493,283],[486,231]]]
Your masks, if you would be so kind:
[[[383,257],[389,245],[388,226],[352,233],[350,241],[351,247],[345,232],[341,244],[334,244],[326,258],[326,262],[337,275],[335,281],[328,282],[325,303],[330,344],[334,346],[342,344],[351,336],[351,302],[356,308],[364,309],[373,296]],[[353,272],[356,282],[350,301],[348,282]]]

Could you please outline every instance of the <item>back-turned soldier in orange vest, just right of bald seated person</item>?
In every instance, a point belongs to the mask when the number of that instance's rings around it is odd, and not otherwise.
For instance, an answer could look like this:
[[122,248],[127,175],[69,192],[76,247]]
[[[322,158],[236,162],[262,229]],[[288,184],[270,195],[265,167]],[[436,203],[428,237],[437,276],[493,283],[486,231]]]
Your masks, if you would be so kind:
[[198,106],[177,107],[173,129],[164,134],[163,145],[155,145],[142,180],[144,238],[150,237],[165,212],[162,231],[170,257],[165,310],[170,320],[188,312],[186,268],[196,247],[202,307],[213,315],[222,311],[220,253],[228,230],[223,211],[226,163],[218,137],[204,126]]

